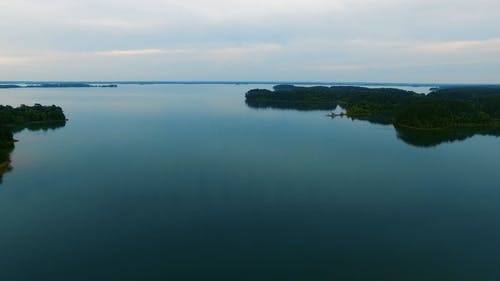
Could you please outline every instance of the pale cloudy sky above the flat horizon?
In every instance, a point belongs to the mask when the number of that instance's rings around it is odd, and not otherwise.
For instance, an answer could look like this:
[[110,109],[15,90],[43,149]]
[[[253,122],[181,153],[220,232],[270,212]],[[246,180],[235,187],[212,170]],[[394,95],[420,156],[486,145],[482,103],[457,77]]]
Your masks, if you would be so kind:
[[0,81],[500,83],[498,0],[0,0]]

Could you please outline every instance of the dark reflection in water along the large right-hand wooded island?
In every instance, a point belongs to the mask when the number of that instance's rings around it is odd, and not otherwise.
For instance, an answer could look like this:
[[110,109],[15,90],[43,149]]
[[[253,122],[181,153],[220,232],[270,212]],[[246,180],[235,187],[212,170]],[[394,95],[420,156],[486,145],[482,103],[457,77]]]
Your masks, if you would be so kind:
[[[340,106],[335,103],[289,103],[289,102],[252,102],[245,101],[246,105],[253,109],[289,109],[298,111],[330,110],[332,114],[328,116],[335,118],[350,118],[342,114],[344,112]],[[357,121],[367,121],[377,125],[393,126],[391,120],[385,116],[371,115],[366,118],[350,118]],[[435,147],[445,143],[464,141],[475,135],[481,136],[500,136],[500,128],[453,128],[446,130],[415,130],[393,126],[396,136],[404,143],[423,148]]]

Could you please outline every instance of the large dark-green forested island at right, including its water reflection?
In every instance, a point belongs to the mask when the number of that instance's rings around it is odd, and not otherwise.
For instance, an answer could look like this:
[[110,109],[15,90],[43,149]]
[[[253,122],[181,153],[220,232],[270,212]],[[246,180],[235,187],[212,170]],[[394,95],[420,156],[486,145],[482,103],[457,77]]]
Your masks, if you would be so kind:
[[393,125],[400,139],[419,146],[500,135],[500,87],[494,86],[437,88],[424,95],[394,88],[278,85],[274,91],[250,90],[245,97],[253,108],[334,110],[340,105],[345,116]]

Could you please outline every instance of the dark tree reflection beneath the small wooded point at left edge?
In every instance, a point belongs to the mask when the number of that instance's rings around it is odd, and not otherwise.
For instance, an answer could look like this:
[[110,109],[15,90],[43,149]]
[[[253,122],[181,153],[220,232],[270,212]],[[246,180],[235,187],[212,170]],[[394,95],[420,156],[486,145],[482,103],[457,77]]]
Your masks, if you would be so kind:
[[49,122],[49,123],[30,123],[23,126],[1,127],[0,126],[0,185],[3,182],[3,175],[12,171],[10,154],[15,148],[15,140],[13,134],[19,133],[24,129],[29,131],[48,131],[62,128],[66,125],[66,121]]

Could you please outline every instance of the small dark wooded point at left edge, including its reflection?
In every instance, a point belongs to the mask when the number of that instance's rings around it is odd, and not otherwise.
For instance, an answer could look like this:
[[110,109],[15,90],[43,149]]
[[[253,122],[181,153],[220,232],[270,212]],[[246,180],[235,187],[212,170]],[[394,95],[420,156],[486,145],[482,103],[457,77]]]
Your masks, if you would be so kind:
[[25,128],[28,130],[47,130],[62,127],[66,116],[61,107],[21,105],[19,107],[0,105],[0,183],[2,175],[12,169],[10,153],[14,150],[13,134]]

